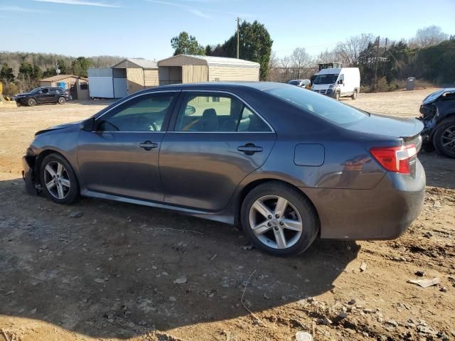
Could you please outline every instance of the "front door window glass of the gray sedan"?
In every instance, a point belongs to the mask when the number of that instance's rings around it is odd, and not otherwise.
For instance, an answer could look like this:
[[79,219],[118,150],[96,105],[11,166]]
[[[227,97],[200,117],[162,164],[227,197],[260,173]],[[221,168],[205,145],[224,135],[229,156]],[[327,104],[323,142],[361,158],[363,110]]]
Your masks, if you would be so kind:
[[120,104],[100,118],[98,131],[162,131],[173,94],[144,94]]

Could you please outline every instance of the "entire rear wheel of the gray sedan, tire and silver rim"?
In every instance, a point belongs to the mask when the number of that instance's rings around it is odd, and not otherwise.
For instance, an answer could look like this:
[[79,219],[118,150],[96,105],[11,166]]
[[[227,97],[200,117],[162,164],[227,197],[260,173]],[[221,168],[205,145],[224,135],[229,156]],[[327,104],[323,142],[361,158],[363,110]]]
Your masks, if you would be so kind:
[[240,212],[242,227],[258,249],[277,256],[301,254],[316,239],[319,219],[299,190],[279,182],[258,185]]

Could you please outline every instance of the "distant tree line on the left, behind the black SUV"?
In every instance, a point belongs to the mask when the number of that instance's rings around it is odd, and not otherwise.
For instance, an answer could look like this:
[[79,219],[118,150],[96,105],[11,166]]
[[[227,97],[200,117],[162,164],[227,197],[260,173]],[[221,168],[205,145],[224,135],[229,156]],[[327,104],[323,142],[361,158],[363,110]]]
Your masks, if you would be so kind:
[[38,87],[40,80],[57,75],[87,77],[89,67],[110,67],[121,57],[101,55],[96,57],[68,57],[46,53],[0,52],[0,82],[4,94],[17,94]]

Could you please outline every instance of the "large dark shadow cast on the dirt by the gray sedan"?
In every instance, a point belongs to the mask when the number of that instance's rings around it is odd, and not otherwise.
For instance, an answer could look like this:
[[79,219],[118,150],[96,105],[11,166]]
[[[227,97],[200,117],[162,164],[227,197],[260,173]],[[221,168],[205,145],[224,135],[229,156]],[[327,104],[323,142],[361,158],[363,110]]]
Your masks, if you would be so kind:
[[320,295],[360,249],[319,240],[269,256],[226,224],[87,198],[56,205],[21,179],[1,181],[0,198],[0,314],[90,337],[248,315],[244,292],[254,313]]

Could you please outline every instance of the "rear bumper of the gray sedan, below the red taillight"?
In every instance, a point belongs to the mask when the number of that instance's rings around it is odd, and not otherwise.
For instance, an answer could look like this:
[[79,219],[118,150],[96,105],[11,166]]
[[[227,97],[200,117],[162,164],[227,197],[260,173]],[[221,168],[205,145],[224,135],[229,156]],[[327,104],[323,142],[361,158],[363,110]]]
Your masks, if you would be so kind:
[[314,202],[323,239],[395,239],[422,210],[425,173],[387,173],[371,190],[301,188]]

